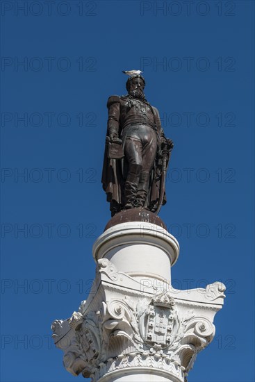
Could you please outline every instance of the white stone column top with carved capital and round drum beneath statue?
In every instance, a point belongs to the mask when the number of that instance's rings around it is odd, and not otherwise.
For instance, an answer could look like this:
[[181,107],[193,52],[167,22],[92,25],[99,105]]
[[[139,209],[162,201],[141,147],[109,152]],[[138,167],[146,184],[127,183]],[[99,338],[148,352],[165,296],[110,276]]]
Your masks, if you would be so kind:
[[110,227],[94,243],[93,256],[87,301],[51,326],[67,371],[93,382],[184,382],[213,340],[224,285],[172,288],[179,244],[147,222]]

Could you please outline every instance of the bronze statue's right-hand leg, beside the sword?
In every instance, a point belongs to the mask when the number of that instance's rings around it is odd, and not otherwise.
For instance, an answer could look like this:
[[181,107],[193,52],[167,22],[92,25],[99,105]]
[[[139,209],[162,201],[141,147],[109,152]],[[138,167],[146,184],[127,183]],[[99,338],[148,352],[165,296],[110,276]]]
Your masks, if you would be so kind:
[[156,158],[157,142],[154,131],[150,130],[147,134],[149,138],[142,147],[142,171],[138,183],[138,195],[136,199],[136,207],[147,207],[147,195],[149,192],[149,178],[151,169]]

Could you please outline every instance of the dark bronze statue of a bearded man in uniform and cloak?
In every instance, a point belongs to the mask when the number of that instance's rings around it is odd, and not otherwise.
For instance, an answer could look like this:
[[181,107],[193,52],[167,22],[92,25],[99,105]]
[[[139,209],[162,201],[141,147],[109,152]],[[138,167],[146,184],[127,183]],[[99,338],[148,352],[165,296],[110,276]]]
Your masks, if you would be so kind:
[[163,171],[173,143],[165,138],[158,110],[145,99],[144,88],[145,78],[135,74],[126,81],[129,94],[108,99],[102,183],[112,216],[129,208],[155,213],[166,202]]

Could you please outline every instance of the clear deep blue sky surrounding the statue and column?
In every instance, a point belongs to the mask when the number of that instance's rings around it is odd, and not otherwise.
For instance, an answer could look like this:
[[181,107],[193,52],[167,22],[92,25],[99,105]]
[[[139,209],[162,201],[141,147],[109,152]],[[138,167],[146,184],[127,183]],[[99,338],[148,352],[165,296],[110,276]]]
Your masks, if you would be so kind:
[[227,285],[189,381],[253,381],[253,26],[254,1],[1,1],[1,381],[83,380],[50,326],[94,279],[123,69],[143,70],[175,144],[161,210],[181,246],[173,284]]

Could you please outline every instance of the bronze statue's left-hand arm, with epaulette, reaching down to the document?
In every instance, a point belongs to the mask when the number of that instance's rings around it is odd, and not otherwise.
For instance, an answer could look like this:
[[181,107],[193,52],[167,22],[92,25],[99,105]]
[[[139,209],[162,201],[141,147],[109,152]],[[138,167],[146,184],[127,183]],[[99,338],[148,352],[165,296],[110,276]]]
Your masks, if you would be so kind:
[[108,98],[108,136],[111,140],[119,137],[120,128],[120,97],[112,96]]

